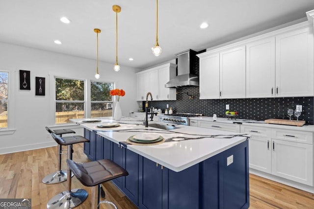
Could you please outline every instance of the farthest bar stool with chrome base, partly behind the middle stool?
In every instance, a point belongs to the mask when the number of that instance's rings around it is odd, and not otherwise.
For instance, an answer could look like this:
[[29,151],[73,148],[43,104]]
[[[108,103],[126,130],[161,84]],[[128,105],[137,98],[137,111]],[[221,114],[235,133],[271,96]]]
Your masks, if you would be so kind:
[[[51,130],[47,126],[45,127],[46,130],[51,134],[54,133],[60,137],[62,137],[62,134],[75,134],[75,131],[71,129],[57,129],[57,130]],[[62,146],[58,144],[58,170],[56,172],[53,172],[43,178],[44,184],[56,184],[60,182],[64,182],[67,180],[67,172],[61,170],[61,155],[62,155]],[[72,176],[73,177],[73,174]]]

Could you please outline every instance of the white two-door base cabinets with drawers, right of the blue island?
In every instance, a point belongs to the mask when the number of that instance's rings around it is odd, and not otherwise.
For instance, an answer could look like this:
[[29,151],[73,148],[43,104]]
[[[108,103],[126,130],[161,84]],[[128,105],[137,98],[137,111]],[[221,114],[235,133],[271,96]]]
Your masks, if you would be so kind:
[[274,176],[313,186],[313,133],[241,125],[250,134],[249,166]]

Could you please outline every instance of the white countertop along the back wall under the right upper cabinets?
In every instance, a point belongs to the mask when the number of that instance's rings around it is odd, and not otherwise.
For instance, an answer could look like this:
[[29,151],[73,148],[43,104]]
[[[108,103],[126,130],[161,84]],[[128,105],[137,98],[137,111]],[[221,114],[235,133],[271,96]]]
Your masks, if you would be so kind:
[[[193,120],[202,120],[202,121],[213,121],[213,118],[210,116],[200,116],[200,117],[190,117]],[[259,127],[267,127],[267,128],[280,128],[280,129],[288,129],[288,130],[296,130],[296,131],[309,131],[314,132],[314,125],[304,125],[304,126],[292,126],[292,125],[280,125],[280,124],[270,124],[265,123],[263,120],[249,120],[249,119],[228,119],[225,117],[217,117],[218,123],[239,123],[242,125],[249,126],[259,126]]]

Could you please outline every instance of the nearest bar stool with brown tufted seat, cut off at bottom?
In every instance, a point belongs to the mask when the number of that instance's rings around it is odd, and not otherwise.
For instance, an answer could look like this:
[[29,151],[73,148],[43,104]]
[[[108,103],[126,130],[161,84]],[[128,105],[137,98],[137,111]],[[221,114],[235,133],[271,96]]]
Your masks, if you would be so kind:
[[[99,161],[92,161],[88,163],[78,164],[72,160],[67,159],[67,164],[70,167],[71,171],[77,177],[77,179],[84,186],[93,186],[92,187],[92,207],[91,209],[99,209],[99,204],[107,203],[113,205],[117,209],[116,205],[110,201],[100,201],[99,198],[99,188],[100,184],[110,181],[112,179],[127,176],[129,175],[120,165],[114,163],[111,160],[103,159]],[[96,188],[98,186],[98,196],[97,196],[97,205],[95,204],[96,200]]]

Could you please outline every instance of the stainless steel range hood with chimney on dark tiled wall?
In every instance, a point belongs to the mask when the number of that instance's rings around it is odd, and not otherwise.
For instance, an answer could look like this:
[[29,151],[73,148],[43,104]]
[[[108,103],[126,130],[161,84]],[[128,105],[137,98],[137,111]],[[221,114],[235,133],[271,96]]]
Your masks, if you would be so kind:
[[196,51],[187,49],[178,54],[178,75],[165,84],[166,88],[199,86],[198,76],[193,73]]

